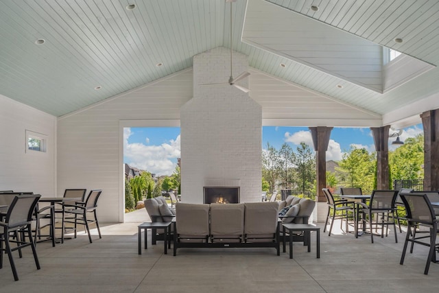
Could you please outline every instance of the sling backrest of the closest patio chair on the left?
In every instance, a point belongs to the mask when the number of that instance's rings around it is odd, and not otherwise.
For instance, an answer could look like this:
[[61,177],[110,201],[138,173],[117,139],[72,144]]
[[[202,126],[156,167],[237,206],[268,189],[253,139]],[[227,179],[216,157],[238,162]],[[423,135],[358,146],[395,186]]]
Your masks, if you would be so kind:
[[32,221],[32,214],[40,197],[40,194],[15,196],[5,217],[5,222],[8,223],[8,226],[14,228],[29,224]]

